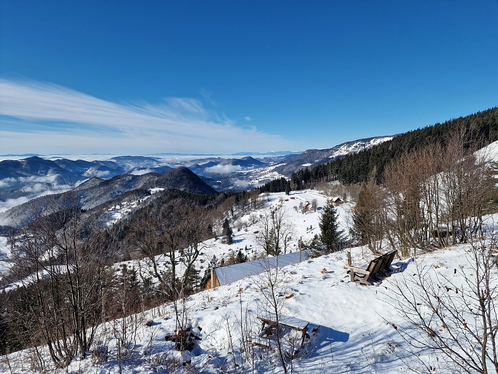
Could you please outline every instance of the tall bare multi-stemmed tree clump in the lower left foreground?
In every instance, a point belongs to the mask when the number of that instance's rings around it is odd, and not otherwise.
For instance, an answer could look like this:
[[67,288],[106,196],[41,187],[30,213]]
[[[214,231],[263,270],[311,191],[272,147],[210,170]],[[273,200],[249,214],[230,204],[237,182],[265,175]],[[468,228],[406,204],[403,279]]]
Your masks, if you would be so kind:
[[46,344],[62,368],[90,350],[116,243],[83,224],[74,192],[45,197],[43,206],[32,202],[31,220],[19,225],[11,242],[22,279],[17,292],[24,295],[24,305],[17,305],[22,309],[12,305],[11,316],[32,318],[26,325],[32,344]]

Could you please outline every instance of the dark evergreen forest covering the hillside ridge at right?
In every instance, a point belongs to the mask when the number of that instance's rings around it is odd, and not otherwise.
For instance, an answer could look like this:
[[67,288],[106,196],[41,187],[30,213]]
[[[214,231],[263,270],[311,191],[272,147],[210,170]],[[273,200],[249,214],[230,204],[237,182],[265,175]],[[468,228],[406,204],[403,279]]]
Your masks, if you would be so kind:
[[301,169],[292,174],[291,183],[303,187],[308,183],[339,180],[344,184],[366,181],[373,170],[380,181],[385,166],[403,153],[411,152],[430,144],[442,145],[456,133],[465,130],[467,147],[484,147],[498,140],[498,107],[436,123],[432,126],[403,133],[392,140],[370,149],[348,155],[342,159],[311,169]]

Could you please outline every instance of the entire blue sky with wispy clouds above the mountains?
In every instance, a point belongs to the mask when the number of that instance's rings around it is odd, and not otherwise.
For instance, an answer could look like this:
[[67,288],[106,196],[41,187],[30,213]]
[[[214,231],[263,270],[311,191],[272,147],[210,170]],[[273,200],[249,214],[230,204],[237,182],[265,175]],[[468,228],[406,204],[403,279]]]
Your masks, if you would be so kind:
[[498,105],[497,0],[0,7],[0,154],[330,148]]

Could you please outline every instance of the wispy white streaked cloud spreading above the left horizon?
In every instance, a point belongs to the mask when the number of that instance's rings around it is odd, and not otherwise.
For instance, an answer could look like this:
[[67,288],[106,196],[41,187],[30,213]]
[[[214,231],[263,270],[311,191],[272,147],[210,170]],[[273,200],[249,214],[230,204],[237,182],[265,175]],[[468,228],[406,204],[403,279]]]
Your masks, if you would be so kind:
[[292,147],[190,98],[113,103],[57,85],[0,79],[1,153],[233,153]]

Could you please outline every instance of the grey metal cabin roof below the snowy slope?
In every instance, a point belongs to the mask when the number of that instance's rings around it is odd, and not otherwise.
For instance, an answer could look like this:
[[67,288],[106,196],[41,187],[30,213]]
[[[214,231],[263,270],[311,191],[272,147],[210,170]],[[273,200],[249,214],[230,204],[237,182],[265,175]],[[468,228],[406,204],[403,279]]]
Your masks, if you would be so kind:
[[[302,251],[301,259],[306,258],[306,251]],[[278,260],[278,261],[277,261]],[[215,270],[216,277],[220,282],[220,286],[225,286],[230,283],[237,282],[251,275],[262,273],[264,270],[274,268],[275,264],[278,267],[297,264],[299,262],[299,252],[281,254],[276,257],[267,257],[260,260],[243,262],[241,264],[217,267]]]

